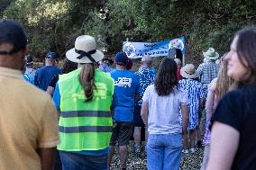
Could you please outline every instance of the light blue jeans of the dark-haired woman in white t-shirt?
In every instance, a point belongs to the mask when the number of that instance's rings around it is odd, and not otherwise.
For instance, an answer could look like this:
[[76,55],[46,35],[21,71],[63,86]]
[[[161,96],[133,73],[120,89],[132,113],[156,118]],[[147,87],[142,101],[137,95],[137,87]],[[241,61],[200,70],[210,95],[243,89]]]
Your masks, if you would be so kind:
[[148,169],[178,170],[181,151],[181,134],[150,134],[147,143]]

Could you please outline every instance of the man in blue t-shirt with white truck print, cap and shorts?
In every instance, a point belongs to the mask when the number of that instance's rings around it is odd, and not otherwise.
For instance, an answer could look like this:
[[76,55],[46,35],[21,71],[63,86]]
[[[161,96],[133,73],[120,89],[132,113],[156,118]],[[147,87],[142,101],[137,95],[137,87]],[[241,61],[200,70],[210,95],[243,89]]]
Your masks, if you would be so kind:
[[114,98],[112,110],[114,112],[113,135],[110,140],[110,164],[114,155],[115,143],[119,146],[120,164],[126,169],[126,159],[130,137],[133,133],[133,111],[135,96],[140,92],[140,80],[133,72],[127,70],[128,57],[124,52],[115,55],[116,69],[111,72],[114,79]]

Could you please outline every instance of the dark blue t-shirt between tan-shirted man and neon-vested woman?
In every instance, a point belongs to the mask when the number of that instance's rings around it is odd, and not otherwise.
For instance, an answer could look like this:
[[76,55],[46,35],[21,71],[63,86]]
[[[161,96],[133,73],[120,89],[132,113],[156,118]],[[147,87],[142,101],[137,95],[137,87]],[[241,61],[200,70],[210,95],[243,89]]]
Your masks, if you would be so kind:
[[61,69],[54,66],[44,66],[35,72],[34,85],[46,91],[52,76],[61,74]]

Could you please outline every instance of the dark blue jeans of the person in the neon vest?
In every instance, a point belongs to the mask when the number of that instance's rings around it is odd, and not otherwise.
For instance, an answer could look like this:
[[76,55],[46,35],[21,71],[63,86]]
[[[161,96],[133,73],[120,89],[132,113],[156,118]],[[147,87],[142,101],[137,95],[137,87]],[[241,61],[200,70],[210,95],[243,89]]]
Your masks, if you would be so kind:
[[107,155],[87,156],[59,151],[63,170],[107,170]]

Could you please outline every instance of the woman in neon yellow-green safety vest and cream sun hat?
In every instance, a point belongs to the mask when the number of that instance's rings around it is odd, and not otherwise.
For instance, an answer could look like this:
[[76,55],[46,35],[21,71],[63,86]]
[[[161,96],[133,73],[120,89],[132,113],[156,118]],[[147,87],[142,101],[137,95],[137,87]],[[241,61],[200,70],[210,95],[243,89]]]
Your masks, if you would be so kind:
[[59,76],[53,95],[60,111],[58,149],[62,168],[106,170],[114,81],[96,69],[104,54],[96,49],[93,37],[79,36],[66,56],[78,63],[78,69]]

